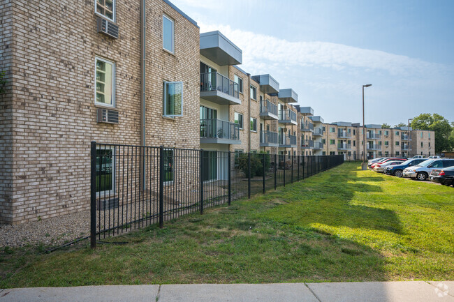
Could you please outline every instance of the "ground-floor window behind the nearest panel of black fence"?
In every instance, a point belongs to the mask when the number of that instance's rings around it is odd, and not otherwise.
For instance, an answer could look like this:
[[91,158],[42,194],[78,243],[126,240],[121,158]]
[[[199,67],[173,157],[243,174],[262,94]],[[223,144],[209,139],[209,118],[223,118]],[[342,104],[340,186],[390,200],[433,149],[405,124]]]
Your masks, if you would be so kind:
[[100,146],[96,149],[96,194],[108,194],[114,189],[114,149]]

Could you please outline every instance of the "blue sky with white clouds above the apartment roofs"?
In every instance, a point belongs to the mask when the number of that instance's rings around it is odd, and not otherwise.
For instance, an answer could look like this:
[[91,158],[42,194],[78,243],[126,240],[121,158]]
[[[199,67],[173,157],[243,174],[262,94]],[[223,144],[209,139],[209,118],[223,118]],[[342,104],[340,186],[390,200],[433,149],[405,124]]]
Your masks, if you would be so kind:
[[325,122],[454,121],[454,1],[171,0]]

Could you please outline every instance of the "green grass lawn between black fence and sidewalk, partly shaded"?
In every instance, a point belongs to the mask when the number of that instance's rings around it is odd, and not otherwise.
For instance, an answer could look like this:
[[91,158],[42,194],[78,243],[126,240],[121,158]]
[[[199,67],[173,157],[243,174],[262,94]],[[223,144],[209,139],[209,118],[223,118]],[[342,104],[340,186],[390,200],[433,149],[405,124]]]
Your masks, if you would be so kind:
[[454,189],[345,163],[299,183],[99,244],[6,248],[0,288],[454,280]]

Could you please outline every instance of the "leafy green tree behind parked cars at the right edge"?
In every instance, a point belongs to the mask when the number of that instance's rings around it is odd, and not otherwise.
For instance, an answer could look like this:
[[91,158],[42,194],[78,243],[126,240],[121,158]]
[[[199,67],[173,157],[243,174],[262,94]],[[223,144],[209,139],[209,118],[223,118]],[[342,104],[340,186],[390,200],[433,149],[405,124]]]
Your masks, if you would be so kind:
[[449,121],[440,114],[423,113],[411,121],[411,128],[418,130],[432,130],[435,132],[435,153],[451,150],[454,148],[451,139],[453,127]]

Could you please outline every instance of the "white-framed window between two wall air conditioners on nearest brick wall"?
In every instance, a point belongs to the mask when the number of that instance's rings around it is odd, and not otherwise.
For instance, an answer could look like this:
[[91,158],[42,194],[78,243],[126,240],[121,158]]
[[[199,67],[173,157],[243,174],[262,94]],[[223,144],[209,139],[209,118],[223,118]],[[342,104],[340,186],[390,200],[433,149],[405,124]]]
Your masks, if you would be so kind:
[[95,87],[94,103],[115,107],[115,63],[96,58]]

